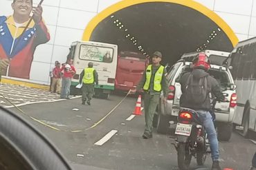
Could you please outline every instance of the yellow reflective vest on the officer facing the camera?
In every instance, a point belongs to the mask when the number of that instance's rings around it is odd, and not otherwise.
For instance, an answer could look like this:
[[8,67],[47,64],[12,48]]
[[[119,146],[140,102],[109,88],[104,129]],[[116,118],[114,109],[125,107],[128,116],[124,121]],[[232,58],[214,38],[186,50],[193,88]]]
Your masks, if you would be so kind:
[[[160,92],[162,89],[161,81],[162,81],[164,70],[165,70],[165,67],[163,67],[163,65],[161,65],[154,75],[154,91],[156,91],[156,92]],[[146,81],[143,86],[143,89],[145,89],[145,90],[149,89],[151,76],[152,76],[152,65],[149,65],[149,66],[147,66]]]

